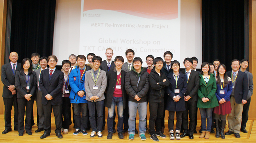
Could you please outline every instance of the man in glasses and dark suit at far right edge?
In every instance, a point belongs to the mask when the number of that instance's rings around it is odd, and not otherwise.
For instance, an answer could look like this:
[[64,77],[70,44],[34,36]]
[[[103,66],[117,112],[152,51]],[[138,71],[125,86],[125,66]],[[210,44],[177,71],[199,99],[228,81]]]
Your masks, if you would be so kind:
[[253,92],[252,73],[250,73],[246,70],[247,67],[248,67],[248,64],[249,64],[249,61],[247,59],[241,60],[240,71],[247,74],[248,86],[249,86],[248,95],[247,95],[247,98],[246,98],[247,102],[243,106],[243,113],[242,113],[242,124],[241,124],[240,131],[243,132],[243,133],[248,133],[245,128],[246,128],[246,123],[248,121],[248,112],[249,112],[249,107],[250,107],[250,103],[251,103],[251,96],[252,96],[252,92]]

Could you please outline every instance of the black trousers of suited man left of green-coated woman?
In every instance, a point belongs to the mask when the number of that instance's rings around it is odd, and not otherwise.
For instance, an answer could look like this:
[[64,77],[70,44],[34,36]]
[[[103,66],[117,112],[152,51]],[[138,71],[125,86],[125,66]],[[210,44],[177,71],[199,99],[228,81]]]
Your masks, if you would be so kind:
[[[182,113],[183,129],[187,134],[194,134],[195,119],[197,112],[197,102],[185,102],[186,110]],[[188,126],[188,115],[189,115],[189,126]],[[188,128],[189,127],[189,128]]]

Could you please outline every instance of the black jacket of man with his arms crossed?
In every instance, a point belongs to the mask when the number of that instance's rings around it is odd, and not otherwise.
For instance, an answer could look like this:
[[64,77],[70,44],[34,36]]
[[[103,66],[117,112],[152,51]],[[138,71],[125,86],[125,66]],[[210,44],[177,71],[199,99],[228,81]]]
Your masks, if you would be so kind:
[[[149,99],[150,102],[162,102],[164,101],[164,88],[168,87],[170,82],[166,77],[165,73],[160,70],[161,76],[156,72],[155,69],[152,69],[149,74],[149,83],[150,83],[150,90],[149,90]],[[166,79],[165,82],[163,80]],[[159,83],[159,84],[156,84]]]

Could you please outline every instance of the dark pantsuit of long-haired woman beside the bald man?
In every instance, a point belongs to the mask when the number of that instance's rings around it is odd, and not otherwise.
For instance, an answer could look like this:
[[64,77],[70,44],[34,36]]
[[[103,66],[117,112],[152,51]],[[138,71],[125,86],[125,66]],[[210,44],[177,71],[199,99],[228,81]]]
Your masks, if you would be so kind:
[[[24,132],[24,115],[25,115],[25,109],[26,109],[26,132],[31,133],[31,121],[32,121],[32,110],[33,110],[33,104],[34,104],[34,98],[36,93],[36,86],[37,86],[37,80],[36,80],[36,73],[32,72],[30,75],[30,83],[29,83],[29,89],[30,91],[27,92],[27,83],[26,83],[26,75],[24,72],[20,73],[19,71],[16,72],[15,75],[15,85],[17,89],[17,101],[18,101],[18,132],[23,133]],[[31,94],[30,97],[31,100],[27,101],[24,97],[26,94]]]

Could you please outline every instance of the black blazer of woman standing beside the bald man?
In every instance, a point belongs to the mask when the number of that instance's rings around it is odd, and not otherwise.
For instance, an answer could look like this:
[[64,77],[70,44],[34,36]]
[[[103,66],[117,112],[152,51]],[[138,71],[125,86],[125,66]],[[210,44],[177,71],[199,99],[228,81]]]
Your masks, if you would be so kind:
[[31,94],[32,96],[30,97],[31,100],[35,99],[35,93],[36,93],[36,86],[37,86],[37,79],[36,79],[36,73],[32,72],[30,75],[30,92],[27,92],[27,82],[26,82],[26,76],[25,73],[22,72],[20,73],[19,71],[16,72],[15,75],[15,85],[16,85],[16,89],[18,91],[17,93],[17,98],[23,98],[25,99],[25,95],[26,94]]

